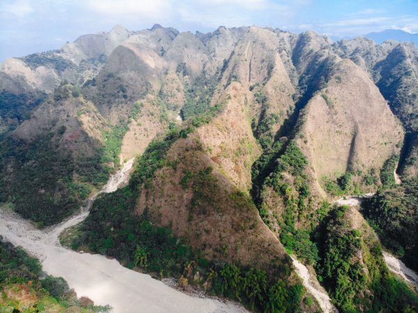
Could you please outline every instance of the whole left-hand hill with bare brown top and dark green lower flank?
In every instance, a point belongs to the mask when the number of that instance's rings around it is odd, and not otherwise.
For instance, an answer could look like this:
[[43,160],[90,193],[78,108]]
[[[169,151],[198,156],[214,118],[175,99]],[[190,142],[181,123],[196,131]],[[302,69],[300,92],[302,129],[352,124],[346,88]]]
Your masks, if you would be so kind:
[[99,151],[107,122],[73,88],[56,89],[1,146],[1,199],[40,224],[70,215],[107,179]]

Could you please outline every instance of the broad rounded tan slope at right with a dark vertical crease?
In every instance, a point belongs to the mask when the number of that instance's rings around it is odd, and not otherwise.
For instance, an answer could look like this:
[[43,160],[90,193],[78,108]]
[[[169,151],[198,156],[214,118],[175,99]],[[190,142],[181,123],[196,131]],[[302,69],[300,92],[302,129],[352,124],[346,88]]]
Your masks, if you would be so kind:
[[346,171],[380,169],[398,154],[403,130],[366,72],[348,60],[336,63],[327,86],[307,104],[298,143],[316,179]]

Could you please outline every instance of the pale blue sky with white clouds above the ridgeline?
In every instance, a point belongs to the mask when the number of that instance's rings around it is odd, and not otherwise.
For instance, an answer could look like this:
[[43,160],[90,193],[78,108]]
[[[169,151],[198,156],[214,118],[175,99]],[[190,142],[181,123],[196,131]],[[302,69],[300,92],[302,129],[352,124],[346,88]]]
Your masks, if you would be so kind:
[[384,29],[418,33],[418,0],[0,0],[0,62],[59,49],[121,24],[208,32],[218,26],[271,26],[352,37]]

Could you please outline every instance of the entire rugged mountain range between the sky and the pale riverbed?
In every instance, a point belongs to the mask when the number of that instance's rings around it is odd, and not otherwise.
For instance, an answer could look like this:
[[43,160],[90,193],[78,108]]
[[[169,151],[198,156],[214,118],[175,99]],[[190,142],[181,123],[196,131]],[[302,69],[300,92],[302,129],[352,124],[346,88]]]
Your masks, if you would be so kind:
[[[159,24],[8,59],[0,201],[46,227],[135,158],[130,182],[100,194],[63,242],[253,312],[317,312],[291,254],[341,312],[410,312],[417,296],[380,240],[414,266],[409,241],[385,241],[382,198],[408,194],[396,218],[408,212],[402,230],[415,234],[417,60],[393,40]],[[366,220],[333,205],[376,190]]]

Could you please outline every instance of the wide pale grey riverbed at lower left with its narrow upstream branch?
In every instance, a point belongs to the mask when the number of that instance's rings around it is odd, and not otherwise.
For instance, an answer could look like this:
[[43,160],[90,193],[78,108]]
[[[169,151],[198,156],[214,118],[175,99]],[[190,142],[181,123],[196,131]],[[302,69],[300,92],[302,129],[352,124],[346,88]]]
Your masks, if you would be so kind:
[[[133,160],[109,178],[102,192],[111,192],[126,183]],[[111,305],[114,313],[248,313],[233,302],[198,298],[181,293],[150,275],[129,270],[115,259],[99,254],[82,254],[59,244],[64,229],[82,222],[95,197],[77,215],[45,230],[10,211],[0,210],[0,235],[38,257],[49,275],[67,280],[78,296],[87,296],[96,305]]]

